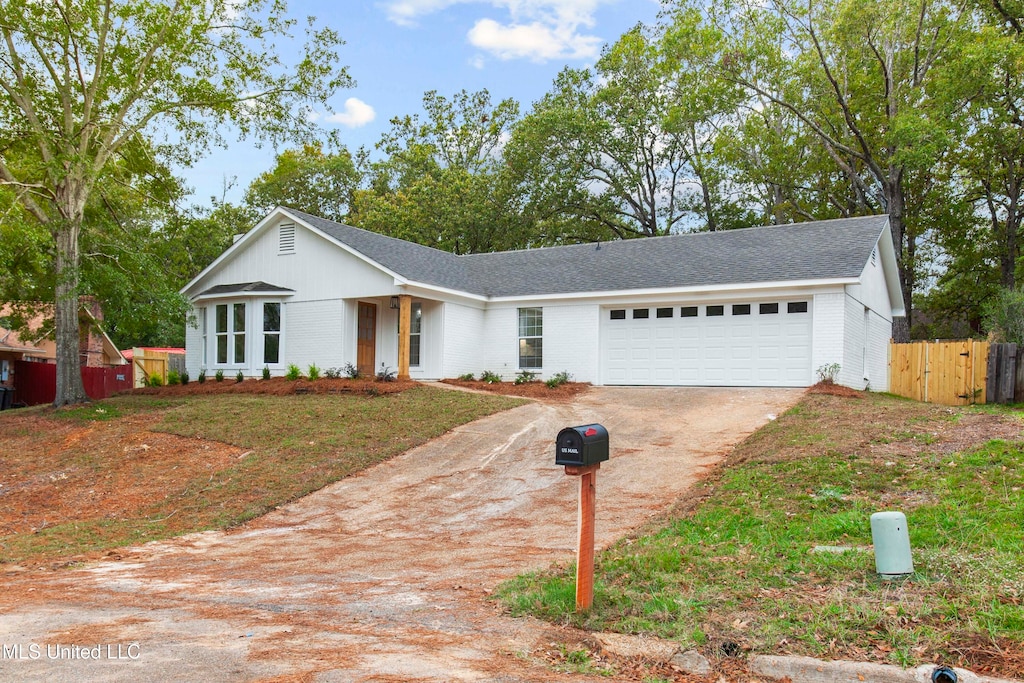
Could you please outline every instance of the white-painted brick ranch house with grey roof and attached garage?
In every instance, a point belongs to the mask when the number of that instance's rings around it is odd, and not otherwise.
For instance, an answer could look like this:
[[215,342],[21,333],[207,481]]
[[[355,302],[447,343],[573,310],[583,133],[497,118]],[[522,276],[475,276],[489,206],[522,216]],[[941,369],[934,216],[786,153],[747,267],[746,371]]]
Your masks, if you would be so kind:
[[182,290],[186,366],[888,387],[887,216],[456,256],[279,208]]

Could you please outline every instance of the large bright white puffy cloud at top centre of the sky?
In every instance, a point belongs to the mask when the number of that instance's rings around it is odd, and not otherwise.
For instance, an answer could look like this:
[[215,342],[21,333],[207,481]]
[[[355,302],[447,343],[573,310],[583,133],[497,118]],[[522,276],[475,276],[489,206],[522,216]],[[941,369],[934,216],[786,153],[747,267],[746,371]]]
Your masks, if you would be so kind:
[[596,36],[583,36],[571,28],[540,22],[502,26],[494,19],[480,19],[467,38],[474,47],[500,59],[584,59],[596,56],[601,47],[601,39]]

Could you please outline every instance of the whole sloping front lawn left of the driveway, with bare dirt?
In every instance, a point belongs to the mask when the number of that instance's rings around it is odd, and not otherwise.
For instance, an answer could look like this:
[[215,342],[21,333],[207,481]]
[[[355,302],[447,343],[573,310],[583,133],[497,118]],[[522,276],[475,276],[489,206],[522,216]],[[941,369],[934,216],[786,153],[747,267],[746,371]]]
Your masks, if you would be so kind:
[[0,413],[0,564],[59,566],[226,528],[516,398],[126,395]]

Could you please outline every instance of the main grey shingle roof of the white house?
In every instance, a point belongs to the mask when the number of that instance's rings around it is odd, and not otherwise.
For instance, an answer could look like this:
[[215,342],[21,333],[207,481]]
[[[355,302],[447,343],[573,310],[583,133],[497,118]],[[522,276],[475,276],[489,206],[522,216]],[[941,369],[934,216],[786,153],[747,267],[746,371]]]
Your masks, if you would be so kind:
[[288,209],[410,281],[503,297],[857,278],[887,216],[456,256]]

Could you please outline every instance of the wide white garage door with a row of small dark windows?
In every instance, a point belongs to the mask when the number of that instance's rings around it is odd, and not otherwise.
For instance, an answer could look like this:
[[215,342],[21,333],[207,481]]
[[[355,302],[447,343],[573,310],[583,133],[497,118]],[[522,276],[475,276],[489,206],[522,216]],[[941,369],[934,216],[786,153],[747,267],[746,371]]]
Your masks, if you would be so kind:
[[808,386],[811,302],[602,309],[601,377],[604,384]]

